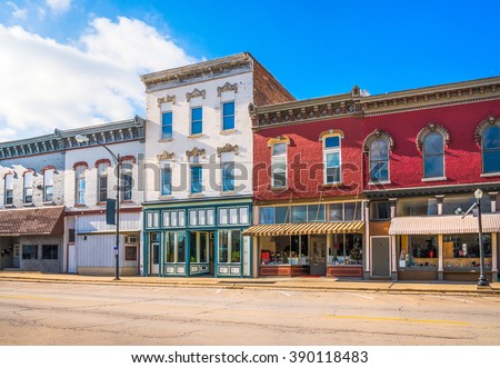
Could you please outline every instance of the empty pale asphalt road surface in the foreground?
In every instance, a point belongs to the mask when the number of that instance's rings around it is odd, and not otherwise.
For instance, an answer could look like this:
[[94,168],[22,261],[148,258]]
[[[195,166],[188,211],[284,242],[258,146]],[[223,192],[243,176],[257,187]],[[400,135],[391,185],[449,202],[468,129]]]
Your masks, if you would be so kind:
[[500,297],[0,282],[1,345],[500,345]]

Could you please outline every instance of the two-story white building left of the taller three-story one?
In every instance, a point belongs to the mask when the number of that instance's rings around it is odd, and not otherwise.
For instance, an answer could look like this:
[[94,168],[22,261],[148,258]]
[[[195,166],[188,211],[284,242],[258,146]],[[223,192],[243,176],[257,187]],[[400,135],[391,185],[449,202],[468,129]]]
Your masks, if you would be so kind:
[[[64,162],[67,271],[116,275],[118,260],[119,276],[139,275],[143,195],[138,162],[144,151],[144,120],[136,117],[61,136],[71,145]],[[107,201],[117,199],[117,159],[121,167],[118,247],[117,226],[107,221]]]

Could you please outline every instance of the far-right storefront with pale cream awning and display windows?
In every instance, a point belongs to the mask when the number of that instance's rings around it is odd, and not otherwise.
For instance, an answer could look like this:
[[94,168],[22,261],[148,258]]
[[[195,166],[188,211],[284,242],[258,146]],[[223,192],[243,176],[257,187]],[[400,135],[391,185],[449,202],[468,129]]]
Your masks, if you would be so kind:
[[[482,215],[484,272],[498,280],[500,213]],[[396,217],[389,235],[398,245],[398,279],[476,281],[478,219],[473,216]]]

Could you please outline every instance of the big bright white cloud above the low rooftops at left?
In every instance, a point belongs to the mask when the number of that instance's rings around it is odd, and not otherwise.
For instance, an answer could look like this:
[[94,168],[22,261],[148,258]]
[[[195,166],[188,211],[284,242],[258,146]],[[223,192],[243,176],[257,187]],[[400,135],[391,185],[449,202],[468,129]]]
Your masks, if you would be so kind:
[[76,44],[0,24],[0,141],[143,115],[139,76],[197,61],[127,18],[94,19]]

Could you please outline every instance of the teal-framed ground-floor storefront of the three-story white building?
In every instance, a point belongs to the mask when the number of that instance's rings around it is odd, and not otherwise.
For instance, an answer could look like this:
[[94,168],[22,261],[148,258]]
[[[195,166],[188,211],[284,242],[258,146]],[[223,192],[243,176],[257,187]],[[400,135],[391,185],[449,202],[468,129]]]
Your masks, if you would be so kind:
[[144,207],[143,275],[251,277],[251,199]]

